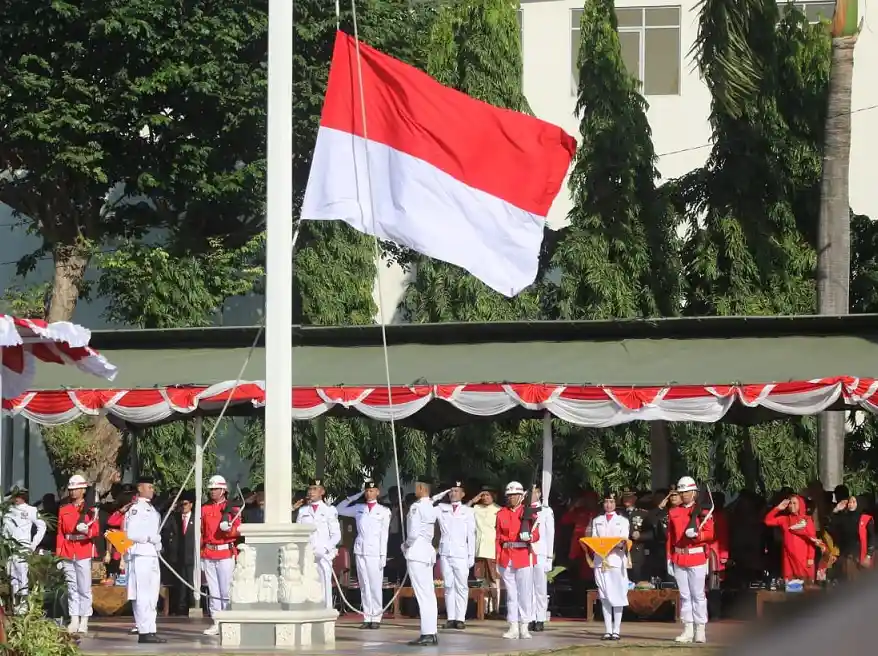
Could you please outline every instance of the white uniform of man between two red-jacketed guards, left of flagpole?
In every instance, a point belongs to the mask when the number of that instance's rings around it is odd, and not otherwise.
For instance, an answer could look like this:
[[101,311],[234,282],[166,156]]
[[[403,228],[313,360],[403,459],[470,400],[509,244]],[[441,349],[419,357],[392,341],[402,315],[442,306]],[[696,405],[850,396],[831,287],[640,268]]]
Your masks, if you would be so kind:
[[146,499],[137,499],[125,513],[123,530],[134,544],[128,548],[128,599],[133,603],[139,635],[156,632],[156,606],[161,589],[159,553],[161,515]]

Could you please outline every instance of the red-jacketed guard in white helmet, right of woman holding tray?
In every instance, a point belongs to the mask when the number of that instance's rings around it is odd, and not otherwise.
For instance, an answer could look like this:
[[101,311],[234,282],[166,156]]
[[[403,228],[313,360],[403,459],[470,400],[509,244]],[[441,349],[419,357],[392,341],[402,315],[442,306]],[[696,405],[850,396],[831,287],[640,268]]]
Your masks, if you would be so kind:
[[[677,642],[707,642],[707,596],[704,592],[710,544],[714,541],[713,518],[695,503],[698,486],[684,476],[677,483],[682,503],[668,511],[668,572],[680,591],[683,633]],[[694,517],[693,517],[694,515]]]

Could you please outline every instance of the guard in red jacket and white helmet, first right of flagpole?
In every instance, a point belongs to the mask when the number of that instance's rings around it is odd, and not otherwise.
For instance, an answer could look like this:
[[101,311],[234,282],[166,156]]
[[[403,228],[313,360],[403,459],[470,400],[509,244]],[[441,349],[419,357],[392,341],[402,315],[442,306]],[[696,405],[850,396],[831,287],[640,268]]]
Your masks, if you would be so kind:
[[506,486],[508,505],[497,513],[497,571],[506,587],[506,619],[509,629],[504,638],[530,638],[527,626],[533,621],[533,567],[537,557],[531,544],[539,540],[539,526],[522,531],[524,488],[512,481]]

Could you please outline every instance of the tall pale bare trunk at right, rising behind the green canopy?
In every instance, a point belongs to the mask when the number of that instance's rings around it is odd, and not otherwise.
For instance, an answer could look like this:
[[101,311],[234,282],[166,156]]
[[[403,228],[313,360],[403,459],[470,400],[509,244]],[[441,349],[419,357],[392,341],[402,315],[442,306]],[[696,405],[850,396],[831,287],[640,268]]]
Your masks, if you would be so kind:
[[[817,311],[820,314],[849,311],[851,87],[856,43],[856,33],[832,39],[817,230]],[[825,412],[817,421],[820,481],[824,489],[831,490],[844,477],[845,415]]]

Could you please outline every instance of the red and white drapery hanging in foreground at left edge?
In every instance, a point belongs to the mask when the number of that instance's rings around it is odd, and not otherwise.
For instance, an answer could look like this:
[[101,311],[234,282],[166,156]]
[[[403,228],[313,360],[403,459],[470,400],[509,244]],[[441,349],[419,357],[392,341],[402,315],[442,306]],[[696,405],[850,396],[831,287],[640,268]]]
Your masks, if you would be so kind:
[[0,314],[0,391],[3,399],[24,394],[33,383],[36,361],[74,366],[106,380],[116,367],[89,348],[91,331],[66,321],[47,323]]

